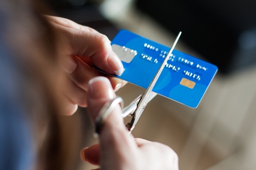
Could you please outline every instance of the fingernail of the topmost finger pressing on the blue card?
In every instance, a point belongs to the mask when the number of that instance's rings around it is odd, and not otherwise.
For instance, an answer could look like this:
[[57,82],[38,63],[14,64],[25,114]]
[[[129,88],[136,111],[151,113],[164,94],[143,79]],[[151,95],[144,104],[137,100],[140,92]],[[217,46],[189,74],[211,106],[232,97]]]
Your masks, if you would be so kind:
[[109,55],[107,62],[110,67],[113,69],[116,75],[121,75],[124,71],[121,60],[115,54]]

